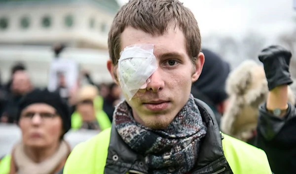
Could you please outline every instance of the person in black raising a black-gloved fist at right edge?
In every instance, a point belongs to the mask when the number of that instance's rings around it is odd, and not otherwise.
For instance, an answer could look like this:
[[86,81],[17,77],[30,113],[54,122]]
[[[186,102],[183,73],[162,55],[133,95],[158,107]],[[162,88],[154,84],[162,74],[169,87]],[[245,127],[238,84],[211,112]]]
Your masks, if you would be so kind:
[[265,48],[259,55],[269,93],[259,108],[256,146],[266,152],[274,174],[296,173],[296,109],[288,102],[291,57],[281,46]]

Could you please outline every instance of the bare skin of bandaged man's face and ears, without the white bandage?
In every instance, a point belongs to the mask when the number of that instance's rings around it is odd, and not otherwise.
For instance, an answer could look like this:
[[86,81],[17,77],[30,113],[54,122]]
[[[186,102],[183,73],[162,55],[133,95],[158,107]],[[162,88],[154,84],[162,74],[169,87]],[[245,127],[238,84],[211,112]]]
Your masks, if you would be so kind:
[[[185,37],[179,28],[171,27],[164,35],[152,36],[127,27],[121,35],[121,51],[126,46],[145,43],[154,45],[158,69],[149,77],[145,93],[127,100],[127,103],[132,107],[137,122],[152,129],[164,129],[188,101],[191,84],[199,77],[204,56],[200,53],[196,65],[192,64],[186,52]],[[118,76],[117,67],[108,66],[108,69],[111,74],[115,70]]]

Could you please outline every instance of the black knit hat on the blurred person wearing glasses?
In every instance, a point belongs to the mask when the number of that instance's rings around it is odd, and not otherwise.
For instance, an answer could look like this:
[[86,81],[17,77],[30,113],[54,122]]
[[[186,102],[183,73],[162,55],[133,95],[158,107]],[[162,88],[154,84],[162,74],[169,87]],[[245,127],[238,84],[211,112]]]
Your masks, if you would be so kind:
[[47,89],[35,89],[26,94],[19,103],[19,112],[17,114],[17,122],[19,122],[21,111],[30,104],[44,103],[51,105],[61,116],[63,120],[63,128],[65,133],[71,128],[71,113],[67,102],[61,98],[59,93],[50,92]]

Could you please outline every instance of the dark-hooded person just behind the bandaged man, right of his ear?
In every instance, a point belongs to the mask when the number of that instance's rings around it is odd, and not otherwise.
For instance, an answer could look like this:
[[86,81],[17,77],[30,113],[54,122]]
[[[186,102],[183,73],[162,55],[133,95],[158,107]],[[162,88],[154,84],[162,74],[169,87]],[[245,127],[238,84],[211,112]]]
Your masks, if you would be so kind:
[[208,104],[216,115],[218,125],[227,105],[225,82],[230,66],[218,54],[202,49],[205,63],[197,81],[192,84],[191,94]]

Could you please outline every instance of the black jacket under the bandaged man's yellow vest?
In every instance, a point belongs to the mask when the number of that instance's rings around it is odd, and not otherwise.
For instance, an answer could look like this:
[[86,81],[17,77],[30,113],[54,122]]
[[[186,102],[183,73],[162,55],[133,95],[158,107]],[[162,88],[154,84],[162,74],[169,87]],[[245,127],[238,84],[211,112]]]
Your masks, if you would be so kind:
[[[222,135],[214,113],[204,102],[196,99],[196,103],[208,131],[201,142],[197,165],[191,174],[216,174],[217,172],[219,172],[217,174],[233,174],[222,150]],[[118,154],[120,158],[114,161],[112,158],[117,155],[116,152],[121,154]],[[132,151],[123,142],[113,124],[104,174],[126,174],[131,166],[135,171],[148,174],[148,167],[145,166],[144,157]],[[220,172],[221,170],[222,172]]]

